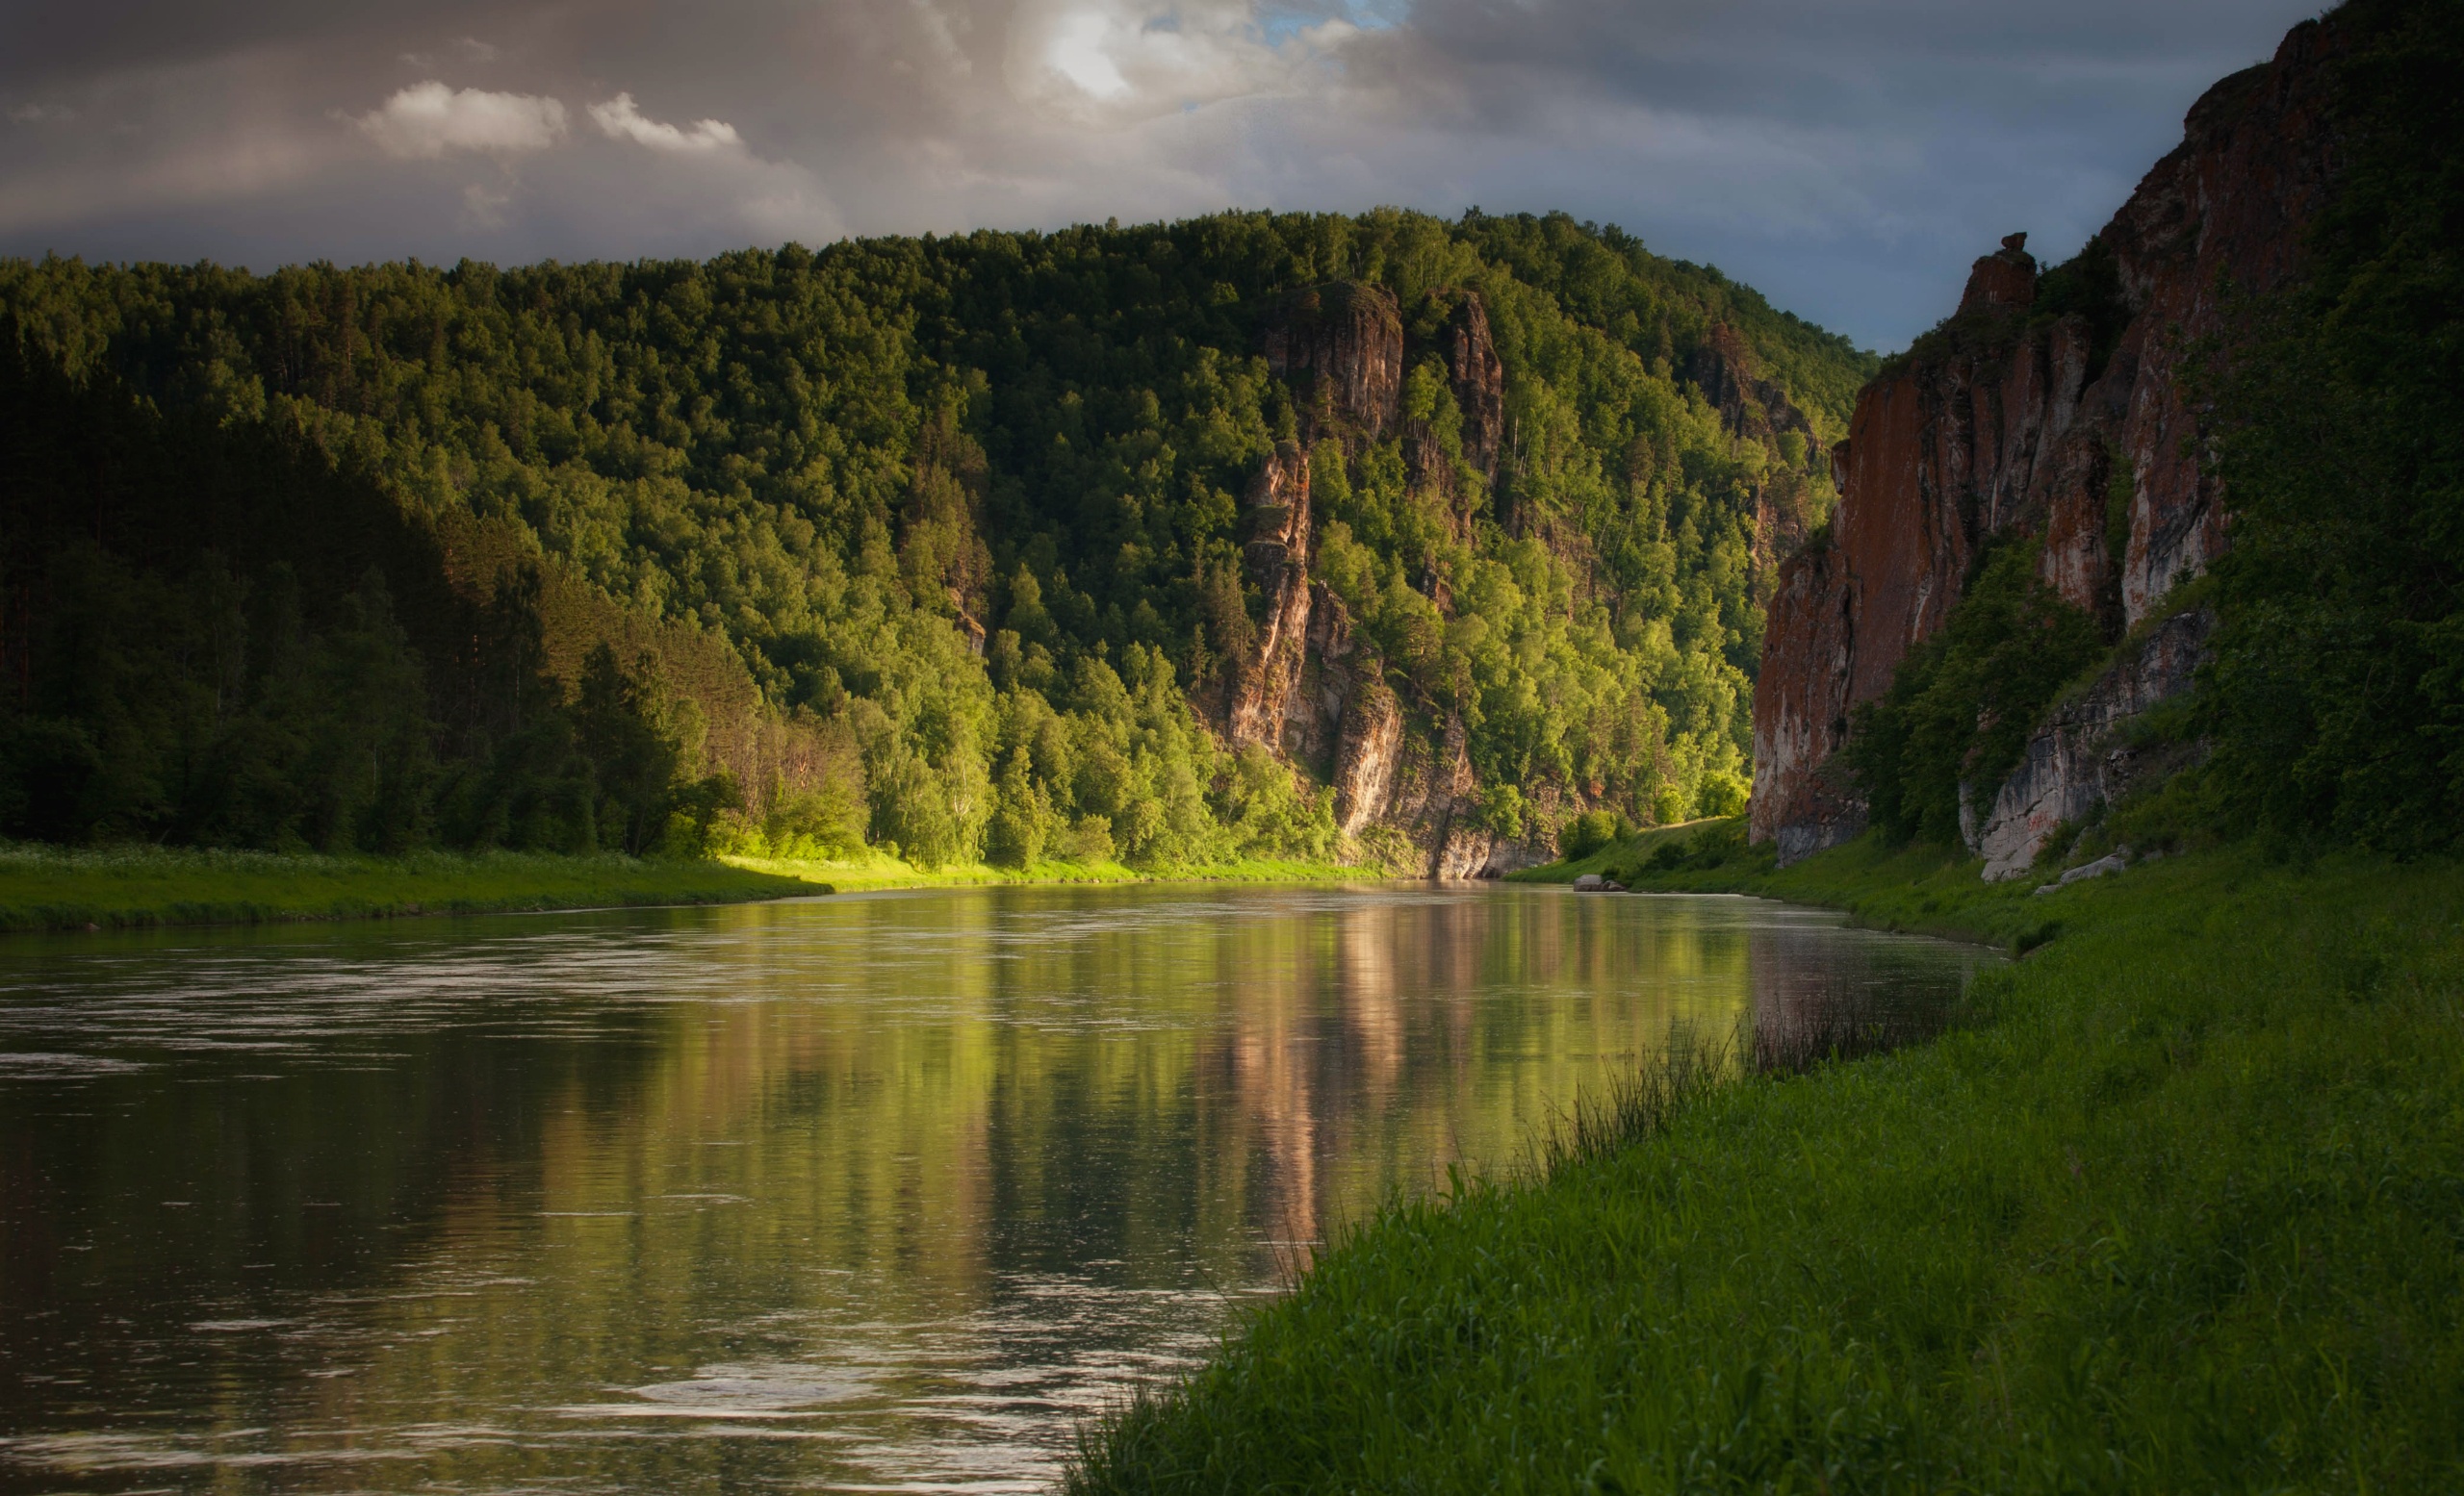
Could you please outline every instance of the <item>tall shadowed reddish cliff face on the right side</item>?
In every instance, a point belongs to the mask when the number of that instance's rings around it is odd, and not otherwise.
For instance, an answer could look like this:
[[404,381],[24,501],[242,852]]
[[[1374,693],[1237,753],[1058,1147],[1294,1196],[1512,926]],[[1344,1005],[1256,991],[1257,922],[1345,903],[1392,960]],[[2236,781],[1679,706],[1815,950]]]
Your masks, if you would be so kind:
[[[1757,843],[1794,860],[1865,826],[1833,754],[1855,707],[1942,628],[1988,537],[2040,535],[2045,582],[2117,631],[2223,547],[2183,367],[2225,323],[2220,286],[2264,293],[2294,271],[2333,168],[2333,44],[2328,25],[2304,22],[2274,62],[2210,89],[2181,148],[2097,234],[2122,318],[2102,360],[2092,315],[2038,315],[2038,266],[2013,234],[1976,261],[1959,313],[1858,394],[1831,453],[1828,547],[1789,559],[1772,596],[1754,683]],[[2129,518],[2119,569],[2112,498]]]

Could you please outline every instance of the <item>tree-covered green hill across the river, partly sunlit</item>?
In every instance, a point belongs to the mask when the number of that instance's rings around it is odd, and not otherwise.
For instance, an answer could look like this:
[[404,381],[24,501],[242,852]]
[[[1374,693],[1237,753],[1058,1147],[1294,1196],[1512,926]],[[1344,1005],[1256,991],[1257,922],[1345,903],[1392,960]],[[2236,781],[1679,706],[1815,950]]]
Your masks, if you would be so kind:
[[[1269,365],[1328,286],[1402,323],[1392,429]],[[1439,818],[1725,808],[1764,579],[1873,372],[1616,229],[1478,212],[5,261],[0,320],[0,833],[325,848],[1326,853],[1333,759],[1225,717],[1279,444],[1326,648]]]

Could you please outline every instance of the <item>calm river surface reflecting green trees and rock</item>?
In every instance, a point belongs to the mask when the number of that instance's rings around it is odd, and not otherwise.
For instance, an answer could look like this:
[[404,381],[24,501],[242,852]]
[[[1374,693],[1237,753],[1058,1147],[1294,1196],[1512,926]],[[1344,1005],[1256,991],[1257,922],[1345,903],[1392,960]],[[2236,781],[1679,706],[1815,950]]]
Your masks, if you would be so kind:
[[1984,959],[1422,885],[5,941],[0,1486],[1040,1489],[1673,1028]]

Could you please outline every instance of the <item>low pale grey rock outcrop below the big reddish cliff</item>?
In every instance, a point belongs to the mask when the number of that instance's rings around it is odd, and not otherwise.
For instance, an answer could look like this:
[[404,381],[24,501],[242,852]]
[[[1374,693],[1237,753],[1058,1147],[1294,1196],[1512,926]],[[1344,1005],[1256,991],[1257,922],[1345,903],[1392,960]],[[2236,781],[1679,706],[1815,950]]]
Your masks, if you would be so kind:
[[1961,833],[1969,850],[1986,860],[1988,880],[2018,877],[2055,828],[2124,799],[2163,766],[2163,754],[2131,742],[2129,730],[2190,688],[2213,628],[2215,614],[2203,609],[2156,624],[2139,648],[2053,710],[1981,821],[1969,823],[1961,806]]

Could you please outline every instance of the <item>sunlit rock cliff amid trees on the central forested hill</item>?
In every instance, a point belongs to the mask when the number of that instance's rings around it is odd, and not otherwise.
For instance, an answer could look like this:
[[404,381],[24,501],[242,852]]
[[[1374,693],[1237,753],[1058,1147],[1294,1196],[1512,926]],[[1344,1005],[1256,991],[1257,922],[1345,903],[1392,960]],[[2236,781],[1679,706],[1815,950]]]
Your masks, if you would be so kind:
[[[1478,776],[1464,725],[1414,732],[1414,715],[1385,680],[1385,661],[1353,636],[1333,591],[1308,579],[1316,515],[1308,500],[1308,446],[1348,449],[1402,436],[1414,483],[1454,498],[1469,522],[1496,481],[1506,429],[1506,367],[1478,293],[1454,301],[1437,335],[1454,402],[1461,409],[1461,466],[1432,431],[1402,421],[1404,328],[1392,293],[1377,286],[1313,286],[1284,298],[1266,323],[1266,362],[1291,382],[1301,441],[1284,441],[1249,483],[1242,505],[1244,562],[1264,594],[1254,656],[1242,661],[1225,707],[1234,744],[1264,744],[1306,766],[1335,791],[1335,821],[1348,835],[1392,828],[1417,848],[1434,877],[1478,877],[1547,860],[1542,845],[1506,843],[1478,828]],[[1444,582],[1429,579],[1444,606]],[[1542,803],[1547,811],[1550,803]]]

